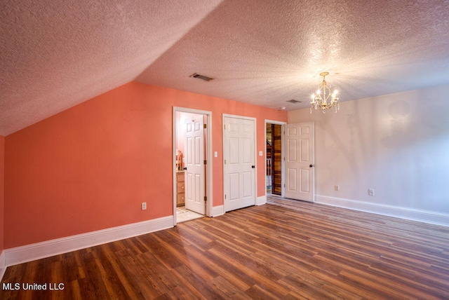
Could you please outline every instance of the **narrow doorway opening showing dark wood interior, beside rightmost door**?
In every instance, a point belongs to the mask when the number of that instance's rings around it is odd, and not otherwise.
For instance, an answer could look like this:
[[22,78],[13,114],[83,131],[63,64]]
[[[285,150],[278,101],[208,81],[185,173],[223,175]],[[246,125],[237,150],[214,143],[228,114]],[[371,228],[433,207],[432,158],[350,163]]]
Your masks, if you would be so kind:
[[283,127],[285,123],[265,120],[267,196],[283,196]]

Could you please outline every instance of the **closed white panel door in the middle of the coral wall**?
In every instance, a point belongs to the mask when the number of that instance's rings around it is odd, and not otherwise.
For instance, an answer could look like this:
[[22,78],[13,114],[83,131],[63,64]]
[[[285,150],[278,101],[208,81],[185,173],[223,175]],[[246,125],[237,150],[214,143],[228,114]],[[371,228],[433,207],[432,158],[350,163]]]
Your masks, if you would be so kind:
[[223,118],[225,212],[255,205],[255,119]]

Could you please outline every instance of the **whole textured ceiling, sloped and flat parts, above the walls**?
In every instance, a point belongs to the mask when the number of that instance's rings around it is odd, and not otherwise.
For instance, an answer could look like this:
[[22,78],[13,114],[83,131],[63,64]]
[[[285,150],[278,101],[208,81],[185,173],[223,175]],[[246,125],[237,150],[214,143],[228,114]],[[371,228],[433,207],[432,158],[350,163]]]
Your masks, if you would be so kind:
[[4,0],[0,54],[0,135],[133,80],[300,109],[321,71],[341,100],[449,83],[449,1]]

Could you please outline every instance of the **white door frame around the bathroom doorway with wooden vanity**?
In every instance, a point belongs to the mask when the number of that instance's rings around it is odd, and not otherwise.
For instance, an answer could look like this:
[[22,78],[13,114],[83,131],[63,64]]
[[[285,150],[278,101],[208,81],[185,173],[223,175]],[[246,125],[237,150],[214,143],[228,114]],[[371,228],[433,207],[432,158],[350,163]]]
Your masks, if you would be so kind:
[[173,174],[173,226],[176,226],[176,146],[177,146],[177,117],[176,114],[189,113],[189,114],[201,114],[206,116],[206,151],[204,153],[204,159],[206,159],[206,216],[211,217],[212,214],[212,111],[203,111],[199,109],[189,109],[185,107],[173,107],[173,153],[172,153],[172,174]]

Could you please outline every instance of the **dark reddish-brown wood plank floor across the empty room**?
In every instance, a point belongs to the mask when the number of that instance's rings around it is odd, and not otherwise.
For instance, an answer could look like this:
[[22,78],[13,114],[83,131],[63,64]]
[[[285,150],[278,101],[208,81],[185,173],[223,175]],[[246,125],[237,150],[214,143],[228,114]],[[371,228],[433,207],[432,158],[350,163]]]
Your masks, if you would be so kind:
[[47,290],[0,299],[449,299],[449,228],[269,198],[11,266],[6,283]]

